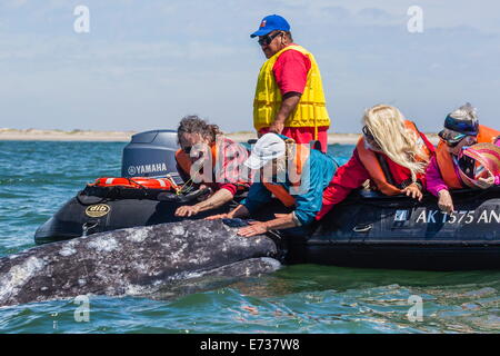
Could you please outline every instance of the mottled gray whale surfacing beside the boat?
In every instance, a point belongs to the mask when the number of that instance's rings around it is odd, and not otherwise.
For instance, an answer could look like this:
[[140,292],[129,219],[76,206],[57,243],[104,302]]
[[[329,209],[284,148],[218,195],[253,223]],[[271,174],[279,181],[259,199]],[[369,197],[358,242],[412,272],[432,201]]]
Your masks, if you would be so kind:
[[244,238],[221,220],[184,220],[90,235],[0,258],[0,306],[80,295],[147,295],[180,280],[271,273],[266,236]]

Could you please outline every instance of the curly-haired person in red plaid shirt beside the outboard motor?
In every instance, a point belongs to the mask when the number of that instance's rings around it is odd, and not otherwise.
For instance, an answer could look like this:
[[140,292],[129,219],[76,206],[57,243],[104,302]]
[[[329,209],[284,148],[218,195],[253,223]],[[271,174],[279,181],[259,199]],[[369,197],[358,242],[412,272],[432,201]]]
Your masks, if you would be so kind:
[[[197,116],[184,117],[177,130],[180,149],[176,152],[177,168],[184,182],[197,182],[199,188],[216,192],[193,206],[181,206],[176,216],[190,217],[218,208],[248,189],[248,170],[241,170],[248,151],[241,145],[223,137],[217,125],[208,125]],[[204,168],[207,168],[204,171]]]

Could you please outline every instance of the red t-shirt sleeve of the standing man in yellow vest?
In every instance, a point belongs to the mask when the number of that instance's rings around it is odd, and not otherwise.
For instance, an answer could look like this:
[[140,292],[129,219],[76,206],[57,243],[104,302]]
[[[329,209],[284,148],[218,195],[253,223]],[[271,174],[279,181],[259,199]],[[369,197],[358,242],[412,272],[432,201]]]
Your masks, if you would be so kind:
[[290,91],[303,93],[309,69],[311,69],[311,60],[308,56],[294,49],[282,52],[272,67],[281,95]]

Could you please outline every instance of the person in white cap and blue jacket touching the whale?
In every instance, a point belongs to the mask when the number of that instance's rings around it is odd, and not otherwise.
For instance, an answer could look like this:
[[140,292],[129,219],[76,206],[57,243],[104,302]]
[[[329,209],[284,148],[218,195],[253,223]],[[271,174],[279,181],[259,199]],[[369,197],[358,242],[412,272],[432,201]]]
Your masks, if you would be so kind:
[[[260,180],[254,179],[247,198],[236,209],[207,219],[251,216],[268,204],[272,195],[293,209],[290,214],[277,214],[276,219],[253,221],[240,228],[238,234],[246,237],[271,229],[288,229],[290,234],[303,231],[320,210],[323,189],[337,168],[333,159],[321,151],[310,149],[308,145],[296,145],[286,136],[271,132],[256,142],[244,165],[253,171],[259,170]],[[269,179],[271,176],[273,179]]]

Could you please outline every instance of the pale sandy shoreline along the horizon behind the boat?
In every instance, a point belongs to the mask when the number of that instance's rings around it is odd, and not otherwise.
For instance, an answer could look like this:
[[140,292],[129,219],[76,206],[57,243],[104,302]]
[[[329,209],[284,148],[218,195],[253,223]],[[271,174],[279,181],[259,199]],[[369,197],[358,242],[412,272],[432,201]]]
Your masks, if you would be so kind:
[[[94,131],[94,130],[40,130],[40,129],[0,129],[0,141],[102,141],[128,142],[138,131]],[[436,134],[426,134],[429,140],[437,145],[439,138]],[[246,142],[256,139],[254,132],[233,132],[227,137],[237,142]],[[329,145],[356,145],[360,134],[329,134]]]

